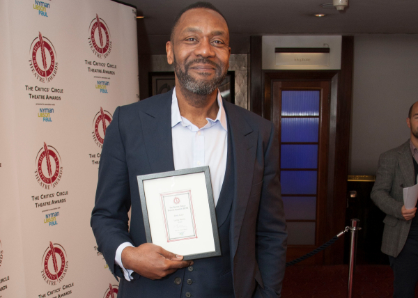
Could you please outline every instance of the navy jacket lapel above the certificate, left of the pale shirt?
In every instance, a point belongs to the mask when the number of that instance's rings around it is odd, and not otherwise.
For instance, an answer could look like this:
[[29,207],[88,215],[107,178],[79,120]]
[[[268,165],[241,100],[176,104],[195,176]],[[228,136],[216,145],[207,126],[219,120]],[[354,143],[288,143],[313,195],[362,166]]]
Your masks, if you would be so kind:
[[150,102],[147,107],[139,111],[148,162],[153,173],[174,171],[171,138],[172,95],[173,90],[150,99],[154,102]]

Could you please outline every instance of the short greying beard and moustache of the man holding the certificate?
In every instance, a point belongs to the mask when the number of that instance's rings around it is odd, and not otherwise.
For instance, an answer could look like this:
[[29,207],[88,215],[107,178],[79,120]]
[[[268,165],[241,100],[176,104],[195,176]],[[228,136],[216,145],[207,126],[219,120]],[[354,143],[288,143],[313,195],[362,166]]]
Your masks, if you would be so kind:
[[[218,65],[217,63],[210,61],[208,58],[198,58],[192,61],[185,63],[185,70],[181,69],[181,66],[176,61],[176,56],[174,56],[174,70],[176,72],[176,76],[180,84],[186,88],[187,91],[194,93],[196,95],[209,95],[213,91],[215,91],[222,81],[224,81],[227,70],[222,73],[222,67],[224,65]],[[210,79],[209,81],[206,80],[199,80],[194,79],[194,77],[189,75],[189,68],[194,64],[210,64],[215,67],[215,77]],[[224,68],[225,69],[225,68]],[[202,74],[203,76],[209,75],[207,73]]]

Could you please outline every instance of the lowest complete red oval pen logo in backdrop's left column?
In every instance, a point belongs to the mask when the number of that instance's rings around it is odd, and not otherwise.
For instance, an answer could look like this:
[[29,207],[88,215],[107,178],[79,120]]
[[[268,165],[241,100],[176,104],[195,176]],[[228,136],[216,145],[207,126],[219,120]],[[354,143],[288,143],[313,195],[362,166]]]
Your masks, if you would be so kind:
[[49,242],[42,256],[42,278],[49,284],[60,283],[67,273],[68,260],[63,246]]

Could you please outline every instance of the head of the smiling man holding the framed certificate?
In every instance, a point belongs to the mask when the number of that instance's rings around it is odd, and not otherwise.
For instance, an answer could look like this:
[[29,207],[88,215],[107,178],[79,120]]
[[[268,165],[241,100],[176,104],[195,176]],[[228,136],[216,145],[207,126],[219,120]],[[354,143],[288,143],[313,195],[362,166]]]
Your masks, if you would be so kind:
[[174,63],[176,84],[197,95],[209,95],[222,83],[229,68],[229,31],[213,10],[187,10],[167,42],[167,60]]

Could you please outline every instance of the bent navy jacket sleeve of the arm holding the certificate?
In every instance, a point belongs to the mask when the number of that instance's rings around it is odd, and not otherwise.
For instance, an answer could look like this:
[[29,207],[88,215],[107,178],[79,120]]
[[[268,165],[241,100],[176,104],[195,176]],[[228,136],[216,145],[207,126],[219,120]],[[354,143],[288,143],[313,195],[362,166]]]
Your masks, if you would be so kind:
[[91,214],[91,228],[100,251],[114,276],[122,277],[115,264],[116,249],[131,242],[128,233],[130,184],[125,159],[125,147],[119,126],[121,107],[116,108],[113,120],[106,130],[100,157],[95,206]]

